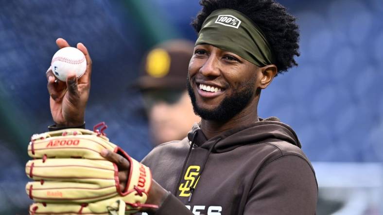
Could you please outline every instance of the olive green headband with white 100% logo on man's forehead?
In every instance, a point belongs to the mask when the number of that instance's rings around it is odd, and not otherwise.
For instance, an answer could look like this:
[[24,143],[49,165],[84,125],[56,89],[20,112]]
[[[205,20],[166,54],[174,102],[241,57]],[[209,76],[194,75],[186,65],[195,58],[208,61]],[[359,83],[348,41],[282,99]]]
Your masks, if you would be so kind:
[[200,44],[233,52],[260,67],[275,64],[274,55],[261,29],[236,10],[213,11],[198,33],[195,46]]

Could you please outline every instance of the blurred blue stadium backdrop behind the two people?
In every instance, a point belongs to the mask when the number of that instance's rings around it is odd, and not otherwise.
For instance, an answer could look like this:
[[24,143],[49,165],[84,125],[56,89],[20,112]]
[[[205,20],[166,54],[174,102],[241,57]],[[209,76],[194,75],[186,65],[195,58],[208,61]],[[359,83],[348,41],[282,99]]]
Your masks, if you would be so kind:
[[[383,215],[383,1],[280,3],[299,19],[301,56],[262,92],[260,116],[296,130],[316,170],[318,215]],[[152,146],[140,94],[127,86],[149,47],[195,40],[199,9],[197,0],[0,0],[0,214],[27,214],[27,145],[52,124],[55,39],[84,43],[93,59],[87,128],[105,121],[140,160]]]

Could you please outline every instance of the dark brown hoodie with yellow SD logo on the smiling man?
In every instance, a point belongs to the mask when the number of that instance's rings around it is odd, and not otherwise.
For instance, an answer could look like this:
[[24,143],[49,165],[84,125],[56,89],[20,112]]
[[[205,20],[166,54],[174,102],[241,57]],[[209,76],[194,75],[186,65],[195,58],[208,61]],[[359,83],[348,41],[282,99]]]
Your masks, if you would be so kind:
[[314,215],[315,173],[295,132],[260,120],[211,139],[194,124],[153,149],[142,163],[172,192],[156,215]]

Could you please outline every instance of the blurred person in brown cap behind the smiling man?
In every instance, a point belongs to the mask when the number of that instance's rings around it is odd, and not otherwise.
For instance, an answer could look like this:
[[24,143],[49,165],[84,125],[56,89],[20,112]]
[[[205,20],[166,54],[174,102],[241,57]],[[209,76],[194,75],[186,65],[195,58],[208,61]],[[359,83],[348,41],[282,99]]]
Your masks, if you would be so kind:
[[186,75],[194,44],[169,40],[152,48],[141,63],[135,84],[142,93],[155,145],[185,138],[200,118],[193,112]]

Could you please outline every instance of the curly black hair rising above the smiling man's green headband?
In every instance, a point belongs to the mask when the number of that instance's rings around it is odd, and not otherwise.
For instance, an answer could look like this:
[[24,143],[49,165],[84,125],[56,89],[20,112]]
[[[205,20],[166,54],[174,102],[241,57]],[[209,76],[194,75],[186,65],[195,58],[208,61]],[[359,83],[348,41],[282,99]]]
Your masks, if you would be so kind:
[[276,59],[278,73],[287,71],[298,64],[294,56],[299,56],[299,30],[296,17],[274,0],[200,0],[203,8],[192,20],[191,25],[199,32],[211,12],[228,8],[239,11],[253,20],[264,33]]

